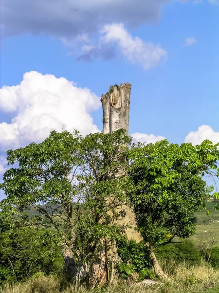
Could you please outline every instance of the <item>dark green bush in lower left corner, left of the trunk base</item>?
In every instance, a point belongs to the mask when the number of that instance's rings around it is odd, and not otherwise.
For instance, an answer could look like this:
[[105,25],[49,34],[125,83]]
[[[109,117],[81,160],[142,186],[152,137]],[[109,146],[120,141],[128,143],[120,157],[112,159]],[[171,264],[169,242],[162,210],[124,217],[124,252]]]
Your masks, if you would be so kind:
[[48,229],[20,228],[0,233],[0,280],[62,272],[64,261],[58,242],[57,234]]

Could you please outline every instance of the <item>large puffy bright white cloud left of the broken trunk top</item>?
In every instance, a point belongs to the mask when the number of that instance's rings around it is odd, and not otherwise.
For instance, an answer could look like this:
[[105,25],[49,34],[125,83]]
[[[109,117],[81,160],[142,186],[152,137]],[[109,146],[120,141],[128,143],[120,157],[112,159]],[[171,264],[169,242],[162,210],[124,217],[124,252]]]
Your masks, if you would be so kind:
[[90,116],[101,106],[99,97],[65,78],[27,72],[20,84],[3,86],[0,97],[1,111],[14,113],[11,123],[0,124],[1,150],[40,142],[63,127],[83,135],[99,131]]

